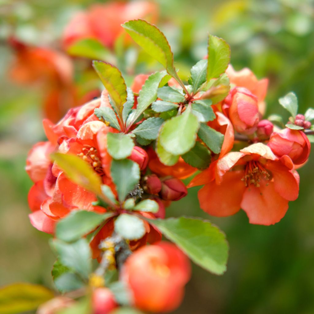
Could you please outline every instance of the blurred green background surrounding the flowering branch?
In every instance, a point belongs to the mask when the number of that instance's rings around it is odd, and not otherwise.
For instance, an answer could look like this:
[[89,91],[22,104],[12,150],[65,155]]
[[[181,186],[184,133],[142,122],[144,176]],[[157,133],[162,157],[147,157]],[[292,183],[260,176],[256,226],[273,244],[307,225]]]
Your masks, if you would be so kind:
[[[231,63],[269,78],[267,114],[288,118],[278,98],[294,91],[300,113],[314,106],[314,1],[159,0],[158,26],[165,32],[184,75],[206,54],[207,33],[231,46]],[[44,140],[41,89],[10,82],[12,50],[6,38],[58,48],[70,16],[95,3],[0,0],[0,284],[28,281],[53,287],[55,260],[49,236],[29,223],[24,171],[31,145]],[[313,151],[313,149],[312,149]],[[167,215],[210,219],[230,243],[228,270],[214,276],[193,265],[186,297],[175,313],[314,313],[314,159],[299,170],[300,196],[273,226],[249,225],[244,212],[214,218],[199,209],[198,188],[175,202]],[[276,204],[273,204],[274,208]]]

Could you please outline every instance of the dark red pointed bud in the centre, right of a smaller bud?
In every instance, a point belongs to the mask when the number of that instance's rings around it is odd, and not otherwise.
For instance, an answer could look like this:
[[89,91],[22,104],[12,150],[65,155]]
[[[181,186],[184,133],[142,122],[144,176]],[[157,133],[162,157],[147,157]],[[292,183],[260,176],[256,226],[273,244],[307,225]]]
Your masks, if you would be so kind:
[[187,188],[177,178],[165,179],[161,182],[159,195],[165,201],[178,201],[187,195]]

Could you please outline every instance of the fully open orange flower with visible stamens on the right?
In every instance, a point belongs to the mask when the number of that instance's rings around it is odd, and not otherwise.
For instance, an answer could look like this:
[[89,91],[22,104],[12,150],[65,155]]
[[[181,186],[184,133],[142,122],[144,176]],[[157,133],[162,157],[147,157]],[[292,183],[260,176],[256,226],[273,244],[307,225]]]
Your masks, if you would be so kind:
[[284,217],[299,194],[299,175],[288,156],[277,158],[262,143],[221,158],[216,179],[198,192],[200,207],[214,216],[230,216],[242,208],[250,223],[271,225]]

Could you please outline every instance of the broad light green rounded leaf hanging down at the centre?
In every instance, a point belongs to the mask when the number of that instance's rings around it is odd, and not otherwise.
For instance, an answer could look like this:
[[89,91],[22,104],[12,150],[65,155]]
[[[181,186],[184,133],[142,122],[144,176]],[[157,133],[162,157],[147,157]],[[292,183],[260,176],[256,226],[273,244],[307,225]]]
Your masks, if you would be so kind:
[[188,152],[195,144],[199,122],[188,106],[181,116],[167,120],[160,129],[159,141],[161,146],[173,155]]

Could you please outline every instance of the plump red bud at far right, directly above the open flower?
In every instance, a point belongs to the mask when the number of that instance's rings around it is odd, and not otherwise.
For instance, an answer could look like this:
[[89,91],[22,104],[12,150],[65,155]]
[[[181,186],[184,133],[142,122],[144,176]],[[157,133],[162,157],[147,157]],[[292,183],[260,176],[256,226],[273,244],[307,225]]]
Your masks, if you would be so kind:
[[268,146],[277,157],[288,155],[295,165],[303,164],[309,157],[311,143],[304,132],[285,128],[274,132]]

